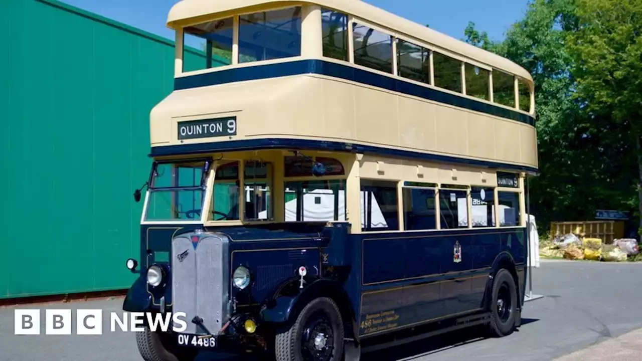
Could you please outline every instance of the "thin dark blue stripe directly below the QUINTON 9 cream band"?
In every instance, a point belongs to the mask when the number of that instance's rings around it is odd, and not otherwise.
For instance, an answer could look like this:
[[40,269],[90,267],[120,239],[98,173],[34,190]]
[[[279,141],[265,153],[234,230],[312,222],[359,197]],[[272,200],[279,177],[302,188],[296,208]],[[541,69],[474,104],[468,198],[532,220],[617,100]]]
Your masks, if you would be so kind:
[[383,148],[379,146],[360,145],[357,143],[342,143],[334,141],[313,141],[308,139],[287,139],[287,138],[263,138],[239,141],[223,141],[213,143],[196,143],[186,145],[153,146],[150,157],[161,157],[166,155],[187,155],[230,152],[239,150],[265,150],[265,149],[307,149],[324,150],[333,152],[352,152],[359,154],[372,154],[390,157],[401,157],[404,159],[417,159],[421,161],[434,161],[440,163],[465,164],[471,166],[482,166],[491,169],[519,170],[537,174],[537,168],[521,166],[518,164],[478,161],[461,157],[450,157],[447,155],[428,154],[399,150],[394,148]]

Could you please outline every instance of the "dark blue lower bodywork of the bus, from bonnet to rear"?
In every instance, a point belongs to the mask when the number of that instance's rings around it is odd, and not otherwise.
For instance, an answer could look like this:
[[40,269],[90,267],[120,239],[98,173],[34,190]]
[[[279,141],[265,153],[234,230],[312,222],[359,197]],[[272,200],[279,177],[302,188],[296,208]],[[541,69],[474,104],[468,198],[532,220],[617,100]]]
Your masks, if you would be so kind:
[[[146,245],[150,245],[152,264],[154,252],[170,250],[173,235],[199,227],[142,227],[141,251],[146,254]],[[355,315],[358,337],[475,312],[485,308],[485,295],[492,285],[489,276],[505,261],[516,266],[523,299],[527,260],[524,227],[370,234],[349,234],[348,229],[345,223],[331,227],[283,223],[207,227],[206,231],[222,232],[230,238],[230,272],[239,265],[252,272],[252,285],[246,290],[232,287],[232,296],[238,310],[259,312],[264,321],[289,319],[300,297],[315,292],[315,285],[331,285],[345,295],[347,304],[343,306]],[[456,242],[461,246],[460,263],[453,261]],[[171,261],[156,262],[167,267],[168,276]],[[308,276],[300,290],[297,269],[302,265]],[[146,267],[141,261],[142,275]],[[149,290],[143,279],[134,283],[124,307],[143,311],[151,293],[153,304],[159,304],[164,296],[171,309],[171,288]]]

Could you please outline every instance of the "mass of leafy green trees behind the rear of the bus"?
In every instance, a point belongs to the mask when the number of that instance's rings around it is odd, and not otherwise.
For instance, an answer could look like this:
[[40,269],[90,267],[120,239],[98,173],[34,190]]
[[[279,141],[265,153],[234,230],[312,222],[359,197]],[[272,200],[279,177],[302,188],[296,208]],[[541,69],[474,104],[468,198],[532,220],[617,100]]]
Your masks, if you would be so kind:
[[639,215],[641,20],[642,1],[532,0],[501,42],[472,22],[464,31],[466,42],[534,78],[541,175],[530,182],[530,206],[541,231],[591,220],[596,209]]

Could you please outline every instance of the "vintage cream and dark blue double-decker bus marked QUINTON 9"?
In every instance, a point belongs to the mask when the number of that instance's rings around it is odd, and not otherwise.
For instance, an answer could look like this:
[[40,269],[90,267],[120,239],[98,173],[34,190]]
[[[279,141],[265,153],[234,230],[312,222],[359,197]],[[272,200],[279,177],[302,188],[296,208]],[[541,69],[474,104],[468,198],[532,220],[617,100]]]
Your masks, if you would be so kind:
[[358,0],[183,0],[168,26],[123,309],[187,327],[146,324],[145,360],[356,360],[520,325],[525,69]]

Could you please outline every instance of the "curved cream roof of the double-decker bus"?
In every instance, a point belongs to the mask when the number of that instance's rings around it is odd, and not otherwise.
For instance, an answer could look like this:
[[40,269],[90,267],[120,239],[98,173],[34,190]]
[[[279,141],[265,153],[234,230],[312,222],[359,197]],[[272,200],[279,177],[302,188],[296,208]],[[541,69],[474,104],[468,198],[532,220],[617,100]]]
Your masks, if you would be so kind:
[[508,73],[527,80],[531,84],[533,82],[532,76],[530,76],[526,69],[511,62],[507,58],[500,57],[490,51],[467,44],[466,42],[417,24],[416,22],[386,12],[361,0],[181,0],[169,10],[167,26],[175,29],[180,28],[180,26],[198,22],[200,21],[199,18],[207,17],[215,13],[230,13],[231,15],[235,10],[245,8],[254,11],[301,3],[318,4],[325,8],[333,8],[339,12],[354,15],[355,17],[378,24],[389,30],[487,64],[487,66],[507,71]]

